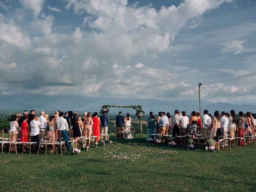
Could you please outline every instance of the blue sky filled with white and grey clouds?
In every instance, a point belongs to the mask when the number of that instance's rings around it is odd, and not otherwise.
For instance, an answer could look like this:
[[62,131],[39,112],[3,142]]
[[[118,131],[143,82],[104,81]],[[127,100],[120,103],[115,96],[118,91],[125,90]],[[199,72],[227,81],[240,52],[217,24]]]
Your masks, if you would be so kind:
[[256,0],[0,0],[0,95],[256,104]]

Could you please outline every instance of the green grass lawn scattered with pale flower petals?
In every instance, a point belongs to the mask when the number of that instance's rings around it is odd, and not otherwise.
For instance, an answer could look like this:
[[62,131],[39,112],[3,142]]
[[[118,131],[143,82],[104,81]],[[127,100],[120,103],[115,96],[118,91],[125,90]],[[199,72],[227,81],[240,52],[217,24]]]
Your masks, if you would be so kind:
[[145,135],[111,140],[79,155],[0,154],[0,191],[256,190],[251,145],[209,153],[147,144]]

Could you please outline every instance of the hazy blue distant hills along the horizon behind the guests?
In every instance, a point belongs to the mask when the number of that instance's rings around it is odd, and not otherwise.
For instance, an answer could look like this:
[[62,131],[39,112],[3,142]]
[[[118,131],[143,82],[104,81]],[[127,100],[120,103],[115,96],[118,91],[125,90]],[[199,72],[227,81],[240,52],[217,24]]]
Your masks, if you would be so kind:
[[[99,111],[102,104],[114,105],[142,105],[146,113],[153,111],[170,112],[173,114],[174,110],[186,111],[188,114],[193,110],[199,111],[198,100],[177,100],[177,102],[166,102],[156,99],[142,99],[142,98],[113,98],[113,97],[80,97],[80,96],[49,96],[49,95],[2,95],[0,96],[0,108],[8,110],[24,110],[24,109],[37,109],[37,110],[78,110],[78,111]],[[215,110],[226,111],[235,110],[243,112],[256,112],[255,105],[238,105],[229,103],[214,103],[202,100],[202,111],[208,109],[210,112]],[[134,113],[133,110],[112,108],[110,112],[123,112]]]

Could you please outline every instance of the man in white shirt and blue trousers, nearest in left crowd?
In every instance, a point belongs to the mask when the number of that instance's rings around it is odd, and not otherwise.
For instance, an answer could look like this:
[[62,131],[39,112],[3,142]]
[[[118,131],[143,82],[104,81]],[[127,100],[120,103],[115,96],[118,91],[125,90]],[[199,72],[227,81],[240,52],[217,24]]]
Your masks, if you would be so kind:
[[[67,150],[68,150],[68,152],[70,152],[70,145],[68,142],[68,133],[67,133],[68,122],[66,119],[63,118],[63,116],[64,116],[63,112],[60,112],[59,116],[60,116],[60,118],[58,118],[56,121],[57,129],[58,129],[58,131],[61,131],[61,137],[66,142]],[[59,137],[59,142],[60,142],[60,137]],[[60,151],[60,147],[59,147],[59,151]]]

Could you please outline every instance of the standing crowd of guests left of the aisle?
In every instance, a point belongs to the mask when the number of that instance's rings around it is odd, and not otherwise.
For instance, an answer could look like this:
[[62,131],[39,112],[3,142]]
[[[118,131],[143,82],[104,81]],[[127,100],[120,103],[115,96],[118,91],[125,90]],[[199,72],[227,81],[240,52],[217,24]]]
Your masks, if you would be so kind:
[[[36,115],[35,110],[23,111],[23,115],[20,113],[13,115],[10,121],[10,130],[14,137],[10,139],[14,142],[17,138],[21,142],[28,142],[28,133],[30,132],[30,141],[36,142],[37,147],[40,145],[40,132],[48,132],[49,141],[60,141],[58,138],[58,131],[61,131],[61,137],[66,143],[68,152],[70,152],[70,144],[68,142],[68,131],[72,131],[72,140],[76,140],[76,144],[80,141],[80,137],[88,138],[88,146],[90,146],[91,136],[94,136],[96,145],[100,140],[100,125],[102,127],[102,135],[105,139],[108,137],[108,124],[109,117],[106,111],[98,117],[98,113],[84,112],[84,116],[78,115],[78,112],[69,114],[62,111],[56,111],[52,116],[45,114],[44,111],[40,112],[40,116]],[[43,135],[43,134],[42,134]],[[78,147],[76,145],[76,147]],[[60,150],[60,149],[59,149]],[[11,152],[16,151],[14,146],[11,146]]]

